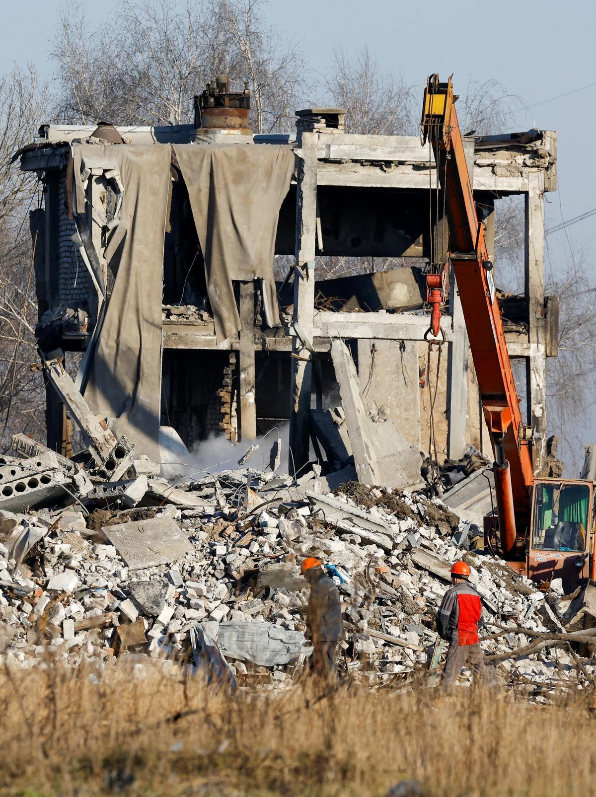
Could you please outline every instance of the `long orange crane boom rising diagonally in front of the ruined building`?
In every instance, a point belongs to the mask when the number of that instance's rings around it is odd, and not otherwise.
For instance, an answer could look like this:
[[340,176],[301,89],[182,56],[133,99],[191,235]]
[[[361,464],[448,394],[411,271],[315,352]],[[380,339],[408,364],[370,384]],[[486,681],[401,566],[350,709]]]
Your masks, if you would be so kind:
[[429,77],[422,108],[422,143],[428,142],[433,150],[438,183],[445,192],[449,261],[457,281],[495,456],[501,546],[505,556],[516,558],[518,534],[530,522],[530,493],[534,484],[529,447],[531,430],[523,424],[492,262],[484,240],[484,223],[476,211],[457,121],[456,100],[451,77],[446,83],[441,83],[437,75]]

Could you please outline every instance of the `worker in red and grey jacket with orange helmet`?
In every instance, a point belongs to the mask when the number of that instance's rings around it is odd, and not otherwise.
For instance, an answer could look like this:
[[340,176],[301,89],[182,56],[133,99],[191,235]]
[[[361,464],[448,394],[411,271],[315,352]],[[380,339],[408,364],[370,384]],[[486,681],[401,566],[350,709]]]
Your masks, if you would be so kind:
[[441,683],[451,686],[466,666],[474,679],[484,678],[484,654],[478,644],[478,623],[482,618],[480,595],[468,583],[470,568],[456,562],[451,568],[453,587],[445,592],[437,611],[437,631],[449,640]]

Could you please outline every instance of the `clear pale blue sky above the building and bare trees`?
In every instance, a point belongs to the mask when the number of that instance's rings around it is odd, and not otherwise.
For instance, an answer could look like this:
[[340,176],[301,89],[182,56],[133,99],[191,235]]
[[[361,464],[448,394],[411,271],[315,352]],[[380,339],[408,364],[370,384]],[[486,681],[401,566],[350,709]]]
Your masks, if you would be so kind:
[[[120,0],[122,2],[122,0]],[[112,13],[120,2],[104,0],[85,5],[92,23]],[[33,61],[42,73],[53,68],[49,46],[61,6],[58,0],[3,3],[0,68],[12,61]],[[456,92],[469,80],[495,78],[530,106],[514,127],[559,133],[559,191],[547,194],[547,226],[596,207],[596,157],[590,139],[596,128],[596,85],[560,99],[552,97],[591,84],[594,77],[594,2],[543,0],[540,3],[472,3],[461,0],[270,0],[265,14],[271,24],[293,37],[304,49],[309,68],[325,73],[331,49],[347,52],[363,44],[374,51],[385,69],[401,72],[421,90],[429,73],[453,72]],[[495,131],[509,132],[509,131]],[[562,217],[563,214],[563,217]],[[569,228],[574,244],[586,249],[586,285],[596,285],[596,264],[590,252],[596,216]],[[563,267],[567,240],[563,233],[548,239],[551,267]],[[587,320],[591,323],[592,320]],[[587,418],[587,434],[596,438],[596,418]],[[583,434],[582,434],[583,437]],[[582,447],[583,440],[578,440]]]

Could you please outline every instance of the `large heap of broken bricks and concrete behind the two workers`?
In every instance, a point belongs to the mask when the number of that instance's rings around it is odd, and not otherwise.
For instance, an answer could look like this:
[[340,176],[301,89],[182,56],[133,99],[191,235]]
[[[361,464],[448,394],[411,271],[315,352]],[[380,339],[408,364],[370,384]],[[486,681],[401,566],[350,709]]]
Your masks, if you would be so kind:
[[[428,665],[449,569],[463,556],[485,622],[511,626],[484,634],[502,634],[484,643],[500,671],[545,685],[575,677],[571,651],[555,643],[539,659],[515,656],[562,630],[556,591],[549,599],[500,559],[462,551],[469,524],[423,492],[348,482],[320,493],[316,478],[299,485],[247,467],[177,485],[147,457],[132,461],[131,478],[85,481],[72,462],[68,471],[39,456],[53,487],[41,506],[24,497],[16,508],[13,490],[3,508],[0,491],[1,662],[207,658],[239,683],[289,682],[311,653],[298,565],[316,556],[343,602],[340,667],[404,680]],[[25,463],[5,457],[0,471]],[[582,668],[594,671],[587,660]]]

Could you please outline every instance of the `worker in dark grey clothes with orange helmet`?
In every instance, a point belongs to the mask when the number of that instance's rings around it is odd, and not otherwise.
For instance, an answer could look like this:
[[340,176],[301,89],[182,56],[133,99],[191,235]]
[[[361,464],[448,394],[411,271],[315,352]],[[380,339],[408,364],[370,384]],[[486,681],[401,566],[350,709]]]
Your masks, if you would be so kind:
[[300,565],[300,575],[308,581],[311,594],[306,610],[307,639],[312,641],[313,673],[327,679],[337,677],[335,650],[340,639],[345,638],[339,591],[333,580],[323,570],[314,556],[308,556]]

